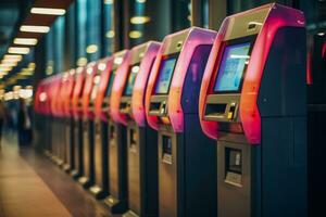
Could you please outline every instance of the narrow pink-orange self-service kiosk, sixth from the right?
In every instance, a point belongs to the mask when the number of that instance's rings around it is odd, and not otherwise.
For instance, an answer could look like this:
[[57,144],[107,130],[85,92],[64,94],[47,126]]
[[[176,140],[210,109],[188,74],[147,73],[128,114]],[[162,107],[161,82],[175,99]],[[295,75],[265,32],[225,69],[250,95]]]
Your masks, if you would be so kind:
[[[78,179],[78,182],[85,188],[89,188],[93,183],[93,113],[89,107],[91,98],[95,98],[96,91],[92,92],[92,87],[99,82],[99,77],[96,77],[97,64],[91,62],[86,66],[85,85],[82,97],[83,107],[83,164],[84,174]],[[96,78],[96,79],[95,79]],[[97,85],[96,85],[97,87]],[[95,89],[96,90],[96,89]],[[93,94],[93,95],[91,95]]]

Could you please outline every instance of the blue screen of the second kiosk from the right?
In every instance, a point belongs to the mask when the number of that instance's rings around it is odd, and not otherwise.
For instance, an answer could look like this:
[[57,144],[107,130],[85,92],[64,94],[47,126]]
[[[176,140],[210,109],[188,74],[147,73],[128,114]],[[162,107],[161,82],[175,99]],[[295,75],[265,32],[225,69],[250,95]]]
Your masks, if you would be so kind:
[[160,65],[159,77],[155,86],[156,94],[168,93],[170,84],[172,80],[173,71],[177,61],[177,56],[163,59]]

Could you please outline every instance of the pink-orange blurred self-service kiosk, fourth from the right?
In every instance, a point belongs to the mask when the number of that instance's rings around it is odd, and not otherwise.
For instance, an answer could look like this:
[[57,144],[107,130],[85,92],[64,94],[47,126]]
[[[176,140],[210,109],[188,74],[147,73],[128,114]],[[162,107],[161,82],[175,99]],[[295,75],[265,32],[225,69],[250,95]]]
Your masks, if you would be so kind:
[[[120,201],[122,196],[125,197],[125,189],[121,188],[122,180],[125,180],[124,177],[126,176],[125,173],[123,173],[124,168],[124,163],[121,159],[117,159],[115,157],[115,153],[118,152],[121,153],[122,150],[120,146],[117,146],[117,143],[120,140],[125,139],[123,137],[117,136],[117,130],[115,125],[113,124],[111,119],[111,95],[112,95],[112,88],[113,84],[115,82],[115,78],[117,75],[117,68],[121,66],[121,64],[124,62],[126,54],[128,53],[127,50],[120,51],[117,53],[114,53],[106,63],[108,67],[108,74],[105,77],[106,78],[106,86],[105,86],[105,91],[102,92],[101,94],[98,95],[98,102],[97,103],[97,116],[98,122],[102,122],[101,131],[102,135],[106,135],[108,137],[102,137],[102,148],[105,150],[105,157],[108,158],[102,158],[108,162],[108,174],[104,175],[106,171],[103,171],[98,167],[98,175],[99,177],[102,176],[102,178],[106,178],[106,186],[102,188],[108,189],[109,196],[105,197],[104,203],[109,206],[111,209],[111,213],[121,213],[121,209],[124,209],[126,206],[125,202]],[[104,85],[103,85],[104,87]],[[102,99],[101,99],[102,98]],[[100,102],[102,101],[102,102]],[[106,131],[105,131],[106,130]],[[100,149],[100,145],[98,144],[98,149]],[[113,153],[112,153],[113,152]],[[96,161],[99,162],[99,158],[101,158],[101,153],[98,151],[96,152]],[[102,167],[103,169],[103,167]],[[102,175],[101,175],[102,173]],[[103,177],[108,176],[108,177]],[[100,180],[100,179],[99,179]],[[104,184],[104,179],[103,179],[103,184]],[[115,197],[117,196],[117,197]]]

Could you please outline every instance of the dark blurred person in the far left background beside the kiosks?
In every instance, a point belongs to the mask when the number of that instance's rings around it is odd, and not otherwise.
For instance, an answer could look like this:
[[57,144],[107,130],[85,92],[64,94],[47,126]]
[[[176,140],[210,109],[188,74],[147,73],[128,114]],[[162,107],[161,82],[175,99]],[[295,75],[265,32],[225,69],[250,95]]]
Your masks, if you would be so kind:
[[20,110],[17,119],[18,144],[26,145],[32,141],[32,123],[25,100],[20,99]]

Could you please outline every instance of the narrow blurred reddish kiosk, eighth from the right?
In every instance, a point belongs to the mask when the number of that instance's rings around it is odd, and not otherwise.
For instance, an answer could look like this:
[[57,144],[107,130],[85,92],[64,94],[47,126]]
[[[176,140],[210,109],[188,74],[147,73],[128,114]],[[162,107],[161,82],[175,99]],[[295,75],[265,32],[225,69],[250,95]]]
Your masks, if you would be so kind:
[[74,162],[73,162],[73,139],[74,139],[74,122],[72,118],[72,107],[71,107],[71,101],[73,97],[74,86],[75,86],[75,69],[71,69],[67,75],[67,85],[65,87],[65,95],[63,99],[63,115],[64,115],[64,170],[70,171],[72,168],[74,168]]

